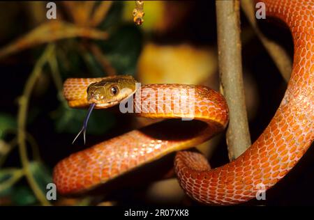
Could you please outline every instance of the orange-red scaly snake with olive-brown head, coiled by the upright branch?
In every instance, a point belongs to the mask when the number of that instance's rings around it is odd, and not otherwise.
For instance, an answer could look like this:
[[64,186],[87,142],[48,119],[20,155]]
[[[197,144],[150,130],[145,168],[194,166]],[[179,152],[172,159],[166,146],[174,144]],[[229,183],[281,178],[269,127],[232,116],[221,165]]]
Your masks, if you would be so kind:
[[[57,163],[53,181],[60,194],[80,194],[175,152],[174,171],[182,189],[207,205],[234,205],[273,187],[297,164],[314,139],[314,1],[265,0],[267,17],[290,28],[292,74],[269,125],[237,159],[211,168],[200,152],[188,150],[223,132],[228,107],[220,93],[201,85],[147,84],[133,77],[70,78],[63,84],[70,107],[96,109],[126,103],[135,116],[165,118],[75,152]],[[158,102],[159,101],[159,102]],[[186,107],[183,108],[184,101]],[[122,104],[124,103],[124,104]],[[121,109],[120,109],[121,110]],[[176,126],[169,121],[179,120]],[[184,135],[184,120],[200,122]],[[176,133],[176,134],[175,134]]]

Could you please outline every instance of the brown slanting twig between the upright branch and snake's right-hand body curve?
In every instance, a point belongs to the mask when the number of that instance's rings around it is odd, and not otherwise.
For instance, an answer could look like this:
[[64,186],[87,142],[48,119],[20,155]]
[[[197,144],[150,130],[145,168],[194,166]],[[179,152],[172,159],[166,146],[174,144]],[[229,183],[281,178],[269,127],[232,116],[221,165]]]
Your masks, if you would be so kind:
[[264,47],[267,49],[267,52],[273,59],[278,70],[281,72],[283,79],[285,79],[285,81],[289,81],[290,74],[292,72],[292,61],[291,61],[290,56],[287,54],[285,49],[281,47],[281,45],[278,45],[278,43],[274,42],[273,40],[269,40],[260,31],[256,23],[254,5],[251,0],[242,0],[241,8],[244,11],[244,14],[246,14],[246,17],[248,18],[248,22],[250,22],[257,37],[260,38],[260,41],[262,42]]

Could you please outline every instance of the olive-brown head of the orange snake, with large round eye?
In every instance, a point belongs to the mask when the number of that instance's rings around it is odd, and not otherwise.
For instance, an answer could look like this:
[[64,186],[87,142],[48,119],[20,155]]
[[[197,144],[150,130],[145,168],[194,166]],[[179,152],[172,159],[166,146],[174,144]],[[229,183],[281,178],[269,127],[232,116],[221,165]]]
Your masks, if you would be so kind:
[[87,101],[96,109],[104,109],[119,104],[121,100],[135,93],[135,79],[131,76],[115,76],[90,84]]

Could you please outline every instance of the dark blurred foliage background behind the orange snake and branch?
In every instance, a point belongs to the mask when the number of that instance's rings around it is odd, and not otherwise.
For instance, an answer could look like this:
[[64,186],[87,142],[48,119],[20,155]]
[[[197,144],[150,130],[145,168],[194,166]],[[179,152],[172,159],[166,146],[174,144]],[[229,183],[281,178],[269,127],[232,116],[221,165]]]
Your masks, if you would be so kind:
[[[133,22],[135,1],[57,1],[57,19],[51,20],[46,17],[47,3],[0,3],[0,205],[47,205],[40,195],[47,192],[57,162],[154,123],[114,109],[94,111],[87,145],[79,139],[72,146],[87,110],[67,107],[62,84],[68,77],[131,74],[142,84],[204,84],[219,89],[214,1],[144,1],[141,26]],[[268,21],[260,27],[292,60],[289,30]],[[274,116],[287,84],[242,12],[241,42],[246,107],[255,141]],[[213,167],[229,162],[224,134],[197,148]],[[284,180],[267,191],[266,201],[245,205],[313,205],[313,155],[310,148]],[[149,173],[158,166],[171,168],[173,156],[149,166]],[[184,194],[175,178],[125,182],[104,191],[76,198],[58,195],[50,204],[201,205]]]

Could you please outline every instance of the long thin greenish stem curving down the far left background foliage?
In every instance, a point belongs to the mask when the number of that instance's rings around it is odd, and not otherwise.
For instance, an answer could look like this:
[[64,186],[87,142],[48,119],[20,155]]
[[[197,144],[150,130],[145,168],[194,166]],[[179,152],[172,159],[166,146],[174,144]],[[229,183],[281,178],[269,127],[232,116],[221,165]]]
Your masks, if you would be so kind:
[[29,76],[29,79],[27,79],[27,83],[25,84],[22,97],[20,97],[19,100],[20,108],[17,113],[17,143],[19,145],[23,170],[31,189],[33,190],[33,193],[35,194],[36,198],[38,198],[38,201],[40,201],[40,203],[43,205],[50,205],[50,203],[45,198],[45,194],[43,194],[43,191],[40,190],[40,187],[38,186],[35,178],[33,178],[33,174],[31,173],[31,169],[29,167],[26,143],[26,121],[27,110],[29,107],[29,98],[31,96],[31,92],[33,91],[33,86],[36,84],[36,81],[40,76],[40,73],[42,72],[43,65],[47,63],[53,50],[53,45],[48,45],[43,55],[38,59],[35,68],[33,68],[33,72],[31,72],[31,75]]

